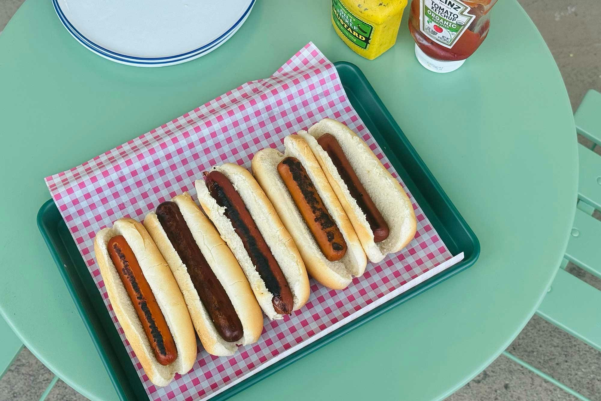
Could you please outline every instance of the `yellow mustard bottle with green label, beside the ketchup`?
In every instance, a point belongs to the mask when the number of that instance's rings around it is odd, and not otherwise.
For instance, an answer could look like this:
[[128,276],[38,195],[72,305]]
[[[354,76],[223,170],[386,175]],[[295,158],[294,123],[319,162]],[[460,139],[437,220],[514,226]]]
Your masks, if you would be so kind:
[[356,54],[373,60],[397,41],[407,0],[332,0],[332,25]]

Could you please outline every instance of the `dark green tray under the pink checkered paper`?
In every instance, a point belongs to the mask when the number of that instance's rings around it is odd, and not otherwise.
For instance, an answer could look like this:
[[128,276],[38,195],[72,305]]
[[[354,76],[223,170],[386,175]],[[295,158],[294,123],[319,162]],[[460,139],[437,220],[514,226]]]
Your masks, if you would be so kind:
[[[465,258],[455,266],[416,285],[410,290],[389,300],[361,317],[347,323],[343,327],[320,338],[314,343],[297,350],[279,362],[261,370],[245,381],[229,388],[213,397],[214,400],[225,400],[245,388],[263,380],[276,371],[314,352],[331,341],[343,336],[361,325],[382,315],[389,309],[423,293],[439,282],[467,269],[475,263],[480,255],[480,243],[468,223],[454,207],[447,194],[430,173],[424,161],[421,160],[409,140],[403,134],[397,123],[386,110],[386,107],[376,95],[365,75],[354,64],[338,62],[334,64],[340,75],[344,90],[350,103],[361,116],[371,134],[376,138],[388,160],[397,170],[415,200],[430,219],[430,222],[447,244],[453,255],[464,252]],[[359,99],[361,101],[359,102]],[[121,343],[117,329],[112,323],[108,311],[97,290],[94,281],[85,266],[75,241],[71,236],[58,208],[50,199],[38,212],[38,227],[58,270],[63,276],[76,308],[84,320],[90,337],[106,367],[117,394],[121,400],[147,399],[144,387],[138,379],[126,349]]]

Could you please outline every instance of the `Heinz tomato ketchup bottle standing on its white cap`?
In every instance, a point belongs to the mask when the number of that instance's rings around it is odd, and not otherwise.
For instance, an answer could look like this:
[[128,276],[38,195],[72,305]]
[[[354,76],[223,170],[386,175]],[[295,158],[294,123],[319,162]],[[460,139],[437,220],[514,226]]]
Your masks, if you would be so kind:
[[434,72],[462,66],[486,38],[496,0],[412,0],[409,31],[415,55]]

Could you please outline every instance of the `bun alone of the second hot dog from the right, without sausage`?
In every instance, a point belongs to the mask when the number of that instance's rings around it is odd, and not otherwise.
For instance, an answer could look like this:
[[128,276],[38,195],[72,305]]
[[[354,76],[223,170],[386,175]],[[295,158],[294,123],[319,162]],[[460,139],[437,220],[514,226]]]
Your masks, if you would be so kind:
[[[361,276],[365,272],[367,258],[361,247],[355,229],[344,213],[336,194],[330,187],[328,179],[323,175],[307,141],[299,135],[288,135],[284,138],[285,154],[276,149],[263,149],[252,158],[252,173],[263,187],[273,207],[284,222],[285,227],[294,238],[301,252],[308,272],[314,279],[329,288],[341,290],[346,288],[353,276]],[[329,261],[315,241],[305,220],[301,216],[288,188],[278,173],[278,164],[284,157],[296,157],[311,178],[323,204],[336,222],[338,229],[346,241],[346,254],[339,261]]]

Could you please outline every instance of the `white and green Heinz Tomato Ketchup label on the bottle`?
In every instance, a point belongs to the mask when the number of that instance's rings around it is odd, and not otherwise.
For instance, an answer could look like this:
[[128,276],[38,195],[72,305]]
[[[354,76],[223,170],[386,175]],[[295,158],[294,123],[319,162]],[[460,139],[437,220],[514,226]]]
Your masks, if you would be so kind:
[[419,0],[419,30],[447,49],[453,47],[475,16],[460,0]]

